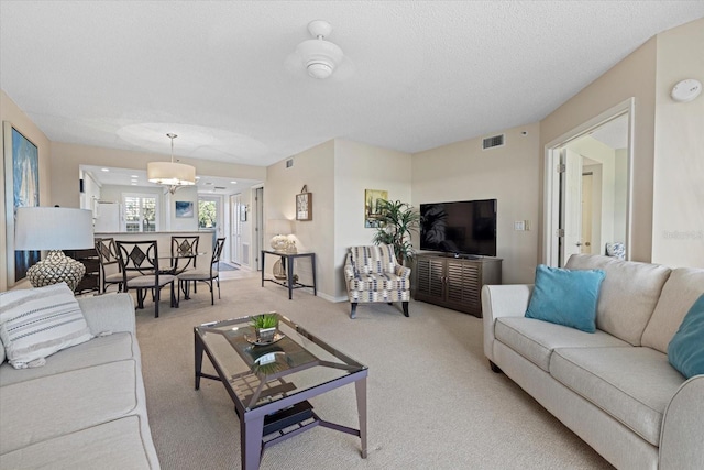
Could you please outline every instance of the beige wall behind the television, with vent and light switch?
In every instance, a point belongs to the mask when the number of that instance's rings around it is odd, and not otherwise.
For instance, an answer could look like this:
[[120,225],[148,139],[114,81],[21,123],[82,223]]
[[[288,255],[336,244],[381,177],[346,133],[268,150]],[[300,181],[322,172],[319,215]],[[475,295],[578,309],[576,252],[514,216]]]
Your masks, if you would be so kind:
[[[503,282],[531,283],[539,245],[540,125],[503,133],[506,144],[501,147],[483,151],[477,138],[414,154],[413,204],[497,199],[496,255],[504,260]],[[515,231],[517,220],[529,220],[530,230]]]

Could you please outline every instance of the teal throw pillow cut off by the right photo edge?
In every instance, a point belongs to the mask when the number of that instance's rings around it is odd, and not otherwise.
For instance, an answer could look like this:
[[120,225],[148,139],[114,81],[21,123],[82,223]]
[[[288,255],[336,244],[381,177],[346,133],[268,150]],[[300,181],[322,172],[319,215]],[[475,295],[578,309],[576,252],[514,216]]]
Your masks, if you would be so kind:
[[668,345],[668,361],[688,379],[704,374],[704,295],[692,305]]

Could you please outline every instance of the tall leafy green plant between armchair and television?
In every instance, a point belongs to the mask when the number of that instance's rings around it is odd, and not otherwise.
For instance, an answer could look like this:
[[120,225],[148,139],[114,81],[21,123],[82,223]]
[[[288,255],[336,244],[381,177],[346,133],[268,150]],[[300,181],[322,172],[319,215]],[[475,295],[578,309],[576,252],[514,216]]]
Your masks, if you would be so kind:
[[375,244],[391,244],[399,264],[414,256],[411,232],[418,231],[420,215],[413,206],[400,200],[378,200],[381,227],[374,233]]

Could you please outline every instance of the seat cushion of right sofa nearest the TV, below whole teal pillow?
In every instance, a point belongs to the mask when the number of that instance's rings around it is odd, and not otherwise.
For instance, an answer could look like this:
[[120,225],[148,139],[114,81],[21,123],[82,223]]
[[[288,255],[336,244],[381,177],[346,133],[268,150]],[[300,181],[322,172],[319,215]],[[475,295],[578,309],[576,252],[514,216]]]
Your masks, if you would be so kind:
[[626,341],[604,331],[596,330],[594,334],[587,334],[574,328],[521,317],[497,318],[494,336],[546,372],[550,370],[550,354],[556,348],[568,346],[630,348]]

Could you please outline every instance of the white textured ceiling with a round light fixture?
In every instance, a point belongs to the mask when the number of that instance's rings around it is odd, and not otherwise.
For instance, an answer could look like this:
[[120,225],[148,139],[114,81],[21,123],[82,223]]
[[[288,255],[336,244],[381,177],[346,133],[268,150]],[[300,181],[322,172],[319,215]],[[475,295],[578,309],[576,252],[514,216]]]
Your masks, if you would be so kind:
[[[535,122],[704,1],[8,1],[0,86],[52,141],[267,165]],[[324,19],[353,64],[287,57]]]

